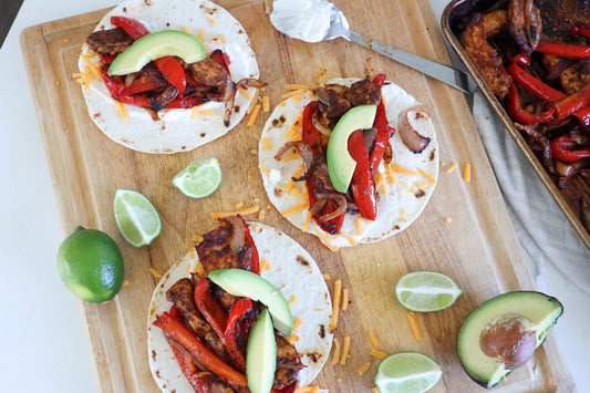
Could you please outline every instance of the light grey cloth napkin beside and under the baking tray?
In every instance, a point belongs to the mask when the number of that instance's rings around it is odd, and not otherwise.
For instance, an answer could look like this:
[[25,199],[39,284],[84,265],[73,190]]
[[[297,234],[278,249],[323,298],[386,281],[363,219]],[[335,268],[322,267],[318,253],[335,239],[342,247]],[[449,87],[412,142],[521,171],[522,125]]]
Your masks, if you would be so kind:
[[590,250],[480,91],[475,93],[473,113],[537,283],[542,287],[544,263],[549,261],[590,293]]

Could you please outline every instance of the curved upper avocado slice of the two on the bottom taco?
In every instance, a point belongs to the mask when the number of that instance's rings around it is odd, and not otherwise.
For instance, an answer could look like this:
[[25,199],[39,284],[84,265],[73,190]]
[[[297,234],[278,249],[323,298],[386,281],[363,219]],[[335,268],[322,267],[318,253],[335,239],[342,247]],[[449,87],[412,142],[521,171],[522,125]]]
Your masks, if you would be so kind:
[[262,277],[241,269],[219,269],[209,273],[209,280],[232,296],[250,298],[262,302],[278,331],[289,337],[293,332],[291,308],[272,283]]

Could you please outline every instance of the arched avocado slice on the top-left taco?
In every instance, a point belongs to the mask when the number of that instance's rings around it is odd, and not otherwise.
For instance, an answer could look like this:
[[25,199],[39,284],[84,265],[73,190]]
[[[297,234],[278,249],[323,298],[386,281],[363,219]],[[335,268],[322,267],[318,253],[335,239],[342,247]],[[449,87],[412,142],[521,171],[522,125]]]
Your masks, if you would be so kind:
[[137,72],[145,64],[164,56],[178,56],[187,63],[205,59],[205,45],[198,38],[179,30],[162,30],[137,39],[113,60],[108,75]]

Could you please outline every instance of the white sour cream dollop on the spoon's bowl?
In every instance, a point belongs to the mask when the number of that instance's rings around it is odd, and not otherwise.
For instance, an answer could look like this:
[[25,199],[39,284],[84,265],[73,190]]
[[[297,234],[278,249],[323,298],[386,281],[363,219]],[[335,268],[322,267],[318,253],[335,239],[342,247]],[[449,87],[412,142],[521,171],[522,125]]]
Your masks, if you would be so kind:
[[[270,22],[290,38],[319,42],[330,30],[330,20],[338,18],[338,13],[340,11],[325,0],[276,0]],[[342,20],[345,22],[344,18]]]

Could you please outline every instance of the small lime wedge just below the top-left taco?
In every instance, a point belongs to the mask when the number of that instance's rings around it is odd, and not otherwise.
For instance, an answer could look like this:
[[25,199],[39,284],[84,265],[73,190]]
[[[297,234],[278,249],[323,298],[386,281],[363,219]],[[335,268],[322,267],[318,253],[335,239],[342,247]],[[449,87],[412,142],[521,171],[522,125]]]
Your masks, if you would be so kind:
[[221,184],[221,165],[215,157],[196,161],[177,173],[172,184],[187,197],[205,198]]

